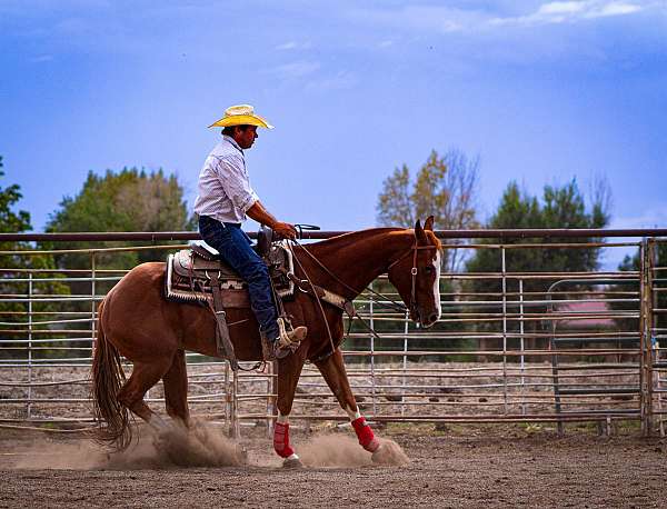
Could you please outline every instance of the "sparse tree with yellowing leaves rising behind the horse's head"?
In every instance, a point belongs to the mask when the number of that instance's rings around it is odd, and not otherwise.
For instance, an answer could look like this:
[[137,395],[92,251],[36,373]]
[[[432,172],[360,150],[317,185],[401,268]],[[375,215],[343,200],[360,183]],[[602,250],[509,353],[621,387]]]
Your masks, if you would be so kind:
[[[438,229],[476,228],[479,159],[468,159],[460,150],[438,156],[435,150],[412,181],[404,164],[385,179],[378,197],[377,221],[380,226],[411,228],[417,219],[434,216]],[[454,270],[462,250],[445,251],[442,266]]]

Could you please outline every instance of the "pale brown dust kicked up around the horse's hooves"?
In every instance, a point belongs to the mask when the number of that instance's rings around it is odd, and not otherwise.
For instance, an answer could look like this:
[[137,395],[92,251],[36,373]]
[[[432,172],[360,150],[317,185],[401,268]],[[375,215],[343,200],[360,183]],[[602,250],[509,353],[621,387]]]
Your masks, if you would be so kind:
[[[137,440],[126,450],[108,452],[92,440],[39,440],[17,453],[18,469],[51,470],[140,470],[193,467],[279,467],[268,446],[253,451],[249,461],[243,448],[210,423],[196,422],[190,429],[172,426],[159,433],[147,427],[137,430]],[[298,437],[295,448],[308,468],[356,468],[372,465],[404,466],[409,459],[392,440],[380,439],[380,448],[367,452],[347,433]]]

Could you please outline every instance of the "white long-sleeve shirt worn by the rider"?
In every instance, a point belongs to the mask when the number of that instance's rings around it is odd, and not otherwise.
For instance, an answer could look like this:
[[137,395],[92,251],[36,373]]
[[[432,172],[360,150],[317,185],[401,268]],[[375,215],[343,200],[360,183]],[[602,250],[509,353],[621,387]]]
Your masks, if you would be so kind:
[[233,138],[223,134],[199,172],[195,212],[221,222],[242,222],[259,200],[250,186],[243,151]]

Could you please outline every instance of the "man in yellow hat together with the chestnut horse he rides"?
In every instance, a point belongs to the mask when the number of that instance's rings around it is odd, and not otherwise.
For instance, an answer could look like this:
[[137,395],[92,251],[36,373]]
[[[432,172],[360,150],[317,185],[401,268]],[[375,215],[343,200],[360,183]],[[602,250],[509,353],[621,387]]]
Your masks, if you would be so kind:
[[[300,463],[289,440],[289,417],[301,369],[309,361],[347,413],[360,446],[379,460],[387,449],[361,416],[345,369],[340,348],[344,313],[361,320],[352,300],[386,273],[402,303],[379,296],[382,301],[409,313],[424,328],[438,321],[442,247],[432,231],[434,218],[429,217],[424,227],[418,220],[414,228],[371,228],[308,246],[296,243],[291,249],[292,276],[298,288],[282,305],[295,323],[308,327],[308,337],[306,327],[285,332],[277,323],[281,318],[277,318],[266,266],[240,229],[247,214],[285,237],[295,237],[291,224],[278,221],[261,206],[246,172],[243,150],[257,138],[257,127],[270,126],[249,106],[229,108],[213,126],[222,126],[225,131],[201,170],[196,211],[202,237],[248,281],[251,309],[245,302],[232,306],[229,301],[222,311],[230,320],[229,339],[237,359],[266,359],[258,329],[276,340],[276,357],[280,359],[273,449],[285,458],[283,465]],[[160,380],[167,413],[189,427],[186,351],[223,357],[213,340],[217,318],[210,309],[167,298],[171,266],[147,262],[135,267],[98,308],[91,369],[94,415],[100,425],[97,436],[117,449],[131,442],[130,413],[158,431],[168,427],[145,400],[147,391]],[[129,378],[122,357],[132,363]]]

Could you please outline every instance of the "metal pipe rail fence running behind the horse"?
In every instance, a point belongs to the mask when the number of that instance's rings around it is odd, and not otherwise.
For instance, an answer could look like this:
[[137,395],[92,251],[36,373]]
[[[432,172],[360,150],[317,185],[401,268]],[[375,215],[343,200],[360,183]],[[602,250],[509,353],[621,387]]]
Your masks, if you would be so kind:
[[[303,233],[322,239],[342,232]],[[644,435],[665,435],[667,347],[660,342],[667,336],[667,260],[658,252],[667,229],[437,234],[446,252],[456,251],[459,259],[484,253],[494,270],[444,270],[442,316],[426,330],[371,293],[359,296],[358,313],[381,339],[352,323],[342,348],[352,389],[370,420],[548,422],[559,432],[568,422],[596,422],[613,432],[618,421],[631,421]],[[634,240],[605,240],[621,237]],[[173,241],[198,238],[192,232],[0,233],[2,246],[11,248],[0,251],[0,427],[92,426],[89,370],[98,302],[137,260],[165,259],[185,246]],[[61,242],[93,247],[57,249]],[[133,244],[104,247],[108,242]],[[559,256],[591,259],[603,248],[634,249],[638,266],[578,271],[565,270],[563,261],[549,266]],[[542,257],[544,270],[525,270],[527,257]],[[386,277],[372,288],[398,298]],[[232,435],[241,426],[270,431],[276,366],[232,372],[221,359],[191,352],[187,359],[195,417],[223,421]],[[147,401],[163,408],[161,385]],[[311,365],[303,369],[290,419],[303,426],[347,421]]]

